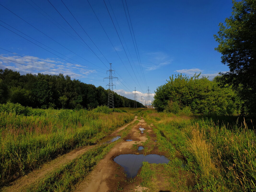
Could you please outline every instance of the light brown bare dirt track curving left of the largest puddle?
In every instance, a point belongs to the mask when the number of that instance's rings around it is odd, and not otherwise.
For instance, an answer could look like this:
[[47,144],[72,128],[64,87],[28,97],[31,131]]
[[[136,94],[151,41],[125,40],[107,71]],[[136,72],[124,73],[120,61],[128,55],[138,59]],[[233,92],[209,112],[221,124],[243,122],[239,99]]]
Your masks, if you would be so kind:
[[[152,136],[151,139],[155,140],[154,134],[151,133],[152,129],[148,126],[145,121],[139,120],[140,122],[132,127],[132,130],[123,141],[117,143],[111,151],[102,159],[91,174],[85,179],[77,188],[76,192],[105,192],[105,191],[116,191],[118,186],[123,187],[123,191],[142,191],[145,188],[139,186],[139,182],[134,182],[131,184],[127,184],[125,182],[120,182],[126,178],[123,174],[124,170],[122,167],[113,161],[113,158],[120,154],[133,154],[136,153],[137,150],[131,149],[133,144],[140,145],[142,142],[145,142],[148,138],[146,137],[146,133],[150,133]],[[142,126],[146,130],[144,133],[141,133],[138,129],[139,126]],[[133,141],[125,141],[127,139]],[[154,154],[157,154],[158,150],[153,150]],[[152,151],[152,152],[153,152]],[[151,152],[151,153],[152,153]],[[119,168],[118,168],[119,167]],[[119,175],[116,177],[116,175]]]

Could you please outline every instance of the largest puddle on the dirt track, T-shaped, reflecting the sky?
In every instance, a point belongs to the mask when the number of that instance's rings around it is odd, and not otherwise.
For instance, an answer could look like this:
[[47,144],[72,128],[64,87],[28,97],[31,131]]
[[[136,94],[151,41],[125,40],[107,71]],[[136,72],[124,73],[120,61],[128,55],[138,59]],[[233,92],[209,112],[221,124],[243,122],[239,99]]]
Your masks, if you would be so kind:
[[137,175],[138,170],[142,166],[142,162],[148,163],[168,163],[170,160],[165,156],[150,154],[150,155],[135,155],[135,154],[123,154],[114,158],[114,162],[121,165],[127,174],[128,178],[133,178]]

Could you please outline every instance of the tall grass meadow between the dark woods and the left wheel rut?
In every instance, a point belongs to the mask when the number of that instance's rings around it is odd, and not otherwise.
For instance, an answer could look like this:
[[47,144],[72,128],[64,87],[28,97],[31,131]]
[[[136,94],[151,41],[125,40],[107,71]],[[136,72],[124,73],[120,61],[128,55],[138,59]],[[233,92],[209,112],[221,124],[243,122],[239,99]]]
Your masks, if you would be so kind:
[[0,113],[0,184],[79,146],[91,145],[131,121],[132,113],[45,110],[43,115]]

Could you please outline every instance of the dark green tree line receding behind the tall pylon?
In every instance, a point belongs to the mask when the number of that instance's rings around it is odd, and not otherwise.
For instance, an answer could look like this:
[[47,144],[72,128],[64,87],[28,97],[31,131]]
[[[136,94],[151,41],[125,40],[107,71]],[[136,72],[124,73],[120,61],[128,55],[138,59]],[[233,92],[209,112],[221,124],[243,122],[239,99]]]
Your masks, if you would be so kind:
[[[0,69],[0,103],[12,102],[42,109],[92,109],[108,104],[108,92],[101,86],[71,80],[62,73],[20,75],[10,69]],[[113,94],[115,107],[134,106],[134,100]],[[137,102],[137,106],[141,103]]]

